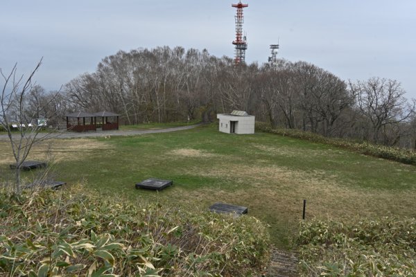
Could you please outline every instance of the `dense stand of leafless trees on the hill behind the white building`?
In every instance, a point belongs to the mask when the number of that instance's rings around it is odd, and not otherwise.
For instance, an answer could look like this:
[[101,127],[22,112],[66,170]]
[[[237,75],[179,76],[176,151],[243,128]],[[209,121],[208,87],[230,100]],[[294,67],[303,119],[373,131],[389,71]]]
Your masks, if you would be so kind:
[[44,113],[57,118],[109,110],[122,114],[125,124],[209,121],[239,109],[272,127],[416,149],[416,102],[405,93],[397,80],[341,80],[309,62],[235,66],[206,50],[164,46],[119,51],[65,84],[58,96],[40,86],[30,96],[33,108],[56,98]]

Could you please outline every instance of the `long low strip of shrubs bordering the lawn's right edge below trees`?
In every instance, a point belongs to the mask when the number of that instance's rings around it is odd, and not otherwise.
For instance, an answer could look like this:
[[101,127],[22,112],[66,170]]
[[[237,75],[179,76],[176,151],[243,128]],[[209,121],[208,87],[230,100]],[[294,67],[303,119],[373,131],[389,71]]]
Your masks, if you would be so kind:
[[256,123],[256,128],[262,132],[279,134],[281,136],[290,136],[291,138],[304,139],[306,141],[312,141],[315,143],[326,143],[329,145],[335,145],[338,147],[347,148],[349,150],[354,150],[361,154],[366,154],[373,157],[416,165],[416,152],[413,150],[395,148],[385,145],[376,145],[366,141],[359,142],[348,141],[346,139],[327,138],[325,136],[321,136],[320,134],[304,132],[298,129],[272,129],[268,127],[266,123]]

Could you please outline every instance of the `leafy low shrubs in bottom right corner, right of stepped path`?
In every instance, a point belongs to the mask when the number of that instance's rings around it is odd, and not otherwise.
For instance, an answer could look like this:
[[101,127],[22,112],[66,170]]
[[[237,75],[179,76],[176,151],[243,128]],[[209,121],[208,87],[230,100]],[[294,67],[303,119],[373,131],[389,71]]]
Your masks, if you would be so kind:
[[415,218],[302,222],[303,276],[416,276]]

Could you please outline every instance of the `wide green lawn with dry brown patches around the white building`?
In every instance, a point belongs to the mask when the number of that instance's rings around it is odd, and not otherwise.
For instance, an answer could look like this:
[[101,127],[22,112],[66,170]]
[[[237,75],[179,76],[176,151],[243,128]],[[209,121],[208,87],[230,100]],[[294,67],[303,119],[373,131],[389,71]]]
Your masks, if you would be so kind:
[[[30,159],[42,159],[46,145]],[[214,202],[248,206],[270,225],[272,242],[290,247],[302,217],[415,216],[416,167],[285,136],[229,135],[214,125],[111,139],[57,139],[49,146],[57,179],[120,201],[205,210]],[[11,153],[0,142],[0,176]],[[2,174],[3,173],[3,174]],[[30,177],[33,173],[26,173]],[[173,179],[159,193],[135,190],[149,177]],[[1,178],[1,177],[0,177]]]

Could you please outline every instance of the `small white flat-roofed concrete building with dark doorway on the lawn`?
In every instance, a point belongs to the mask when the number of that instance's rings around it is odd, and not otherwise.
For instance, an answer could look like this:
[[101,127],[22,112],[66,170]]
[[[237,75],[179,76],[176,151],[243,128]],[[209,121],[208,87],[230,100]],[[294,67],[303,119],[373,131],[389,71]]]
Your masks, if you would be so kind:
[[254,134],[254,118],[246,111],[232,111],[231,114],[217,114],[220,132],[227,134]]

